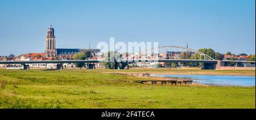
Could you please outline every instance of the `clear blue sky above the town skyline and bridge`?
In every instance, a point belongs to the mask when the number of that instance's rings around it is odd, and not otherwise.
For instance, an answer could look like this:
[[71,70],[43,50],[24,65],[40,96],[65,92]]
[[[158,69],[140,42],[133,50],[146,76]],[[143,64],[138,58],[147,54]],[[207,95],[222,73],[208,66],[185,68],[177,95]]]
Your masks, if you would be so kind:
[[0,0],[0,55],[98,42],[159,42],[255,54],[255,0]]

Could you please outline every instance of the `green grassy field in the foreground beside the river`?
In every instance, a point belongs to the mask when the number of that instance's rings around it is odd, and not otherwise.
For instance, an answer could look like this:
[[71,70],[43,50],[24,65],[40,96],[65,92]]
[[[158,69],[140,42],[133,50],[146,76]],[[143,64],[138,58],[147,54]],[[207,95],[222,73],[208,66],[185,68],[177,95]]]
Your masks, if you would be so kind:
[[[119,70],[118,72],[148,71],[152,70]],[[255,87],[142,85],[134,80],[144,78],[102,72],[114,71],[0,69],[0,108],[255,109]],[[255,73],[255,71],[202,72]]]

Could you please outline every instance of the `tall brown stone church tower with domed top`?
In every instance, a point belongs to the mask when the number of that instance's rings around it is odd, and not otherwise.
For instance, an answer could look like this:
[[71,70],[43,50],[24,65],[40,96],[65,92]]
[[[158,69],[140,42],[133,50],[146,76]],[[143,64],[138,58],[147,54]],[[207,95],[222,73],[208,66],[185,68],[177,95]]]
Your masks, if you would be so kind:
[[46,36],[46,57],[56,57],[54,29],[51,26],[47,29]]

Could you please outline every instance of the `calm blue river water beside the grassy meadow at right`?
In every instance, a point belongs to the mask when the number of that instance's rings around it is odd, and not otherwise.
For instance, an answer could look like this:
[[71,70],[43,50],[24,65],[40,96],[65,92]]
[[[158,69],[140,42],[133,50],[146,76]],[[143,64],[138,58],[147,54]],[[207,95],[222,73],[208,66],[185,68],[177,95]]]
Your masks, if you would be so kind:
[[189,78],[200,84],[218,86],[255,86],[255,76],[228,75],[150,75],[169,78]]

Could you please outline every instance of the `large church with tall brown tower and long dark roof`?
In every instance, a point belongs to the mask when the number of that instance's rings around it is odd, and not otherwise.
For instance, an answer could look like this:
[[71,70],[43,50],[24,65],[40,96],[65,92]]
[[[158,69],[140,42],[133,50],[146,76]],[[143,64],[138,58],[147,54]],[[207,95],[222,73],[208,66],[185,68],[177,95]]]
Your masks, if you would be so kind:
[[66,49],[66,48],[55,48],[55,34],[52,25],[47,28],[46,36],[46,57],[72,57],[77,52],[91,51],[92,53],[100,52],[100,49]]

